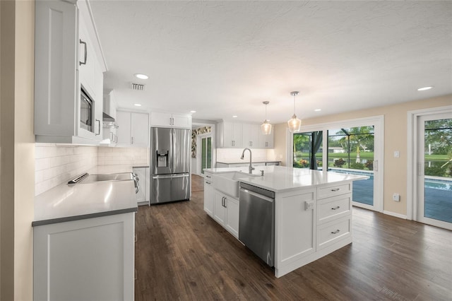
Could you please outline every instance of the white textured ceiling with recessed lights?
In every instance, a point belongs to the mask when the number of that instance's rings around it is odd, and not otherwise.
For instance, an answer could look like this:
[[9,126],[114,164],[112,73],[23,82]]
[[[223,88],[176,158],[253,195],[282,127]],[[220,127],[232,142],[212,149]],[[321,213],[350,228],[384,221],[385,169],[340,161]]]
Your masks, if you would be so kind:
[[119,107],[280,123],[292,90],[302,119],[452,93],[451,1],[90,4]]

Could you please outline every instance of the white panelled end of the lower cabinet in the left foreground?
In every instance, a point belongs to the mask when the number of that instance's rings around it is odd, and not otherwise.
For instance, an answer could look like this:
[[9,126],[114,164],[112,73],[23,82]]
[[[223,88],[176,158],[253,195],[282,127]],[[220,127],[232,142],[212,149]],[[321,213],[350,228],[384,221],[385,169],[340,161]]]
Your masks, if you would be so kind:
[[33,229],[33,300],[133,300],[134,212]]

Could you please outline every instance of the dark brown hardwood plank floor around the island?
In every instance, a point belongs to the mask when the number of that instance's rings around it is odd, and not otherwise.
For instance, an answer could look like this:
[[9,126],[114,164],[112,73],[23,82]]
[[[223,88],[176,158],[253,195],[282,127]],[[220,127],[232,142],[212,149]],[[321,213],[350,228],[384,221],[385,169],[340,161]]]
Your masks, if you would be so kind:
[[141,206],[135,300],[452,300],[452,232],[353,208],[353,243],[281,278],[191,201]]

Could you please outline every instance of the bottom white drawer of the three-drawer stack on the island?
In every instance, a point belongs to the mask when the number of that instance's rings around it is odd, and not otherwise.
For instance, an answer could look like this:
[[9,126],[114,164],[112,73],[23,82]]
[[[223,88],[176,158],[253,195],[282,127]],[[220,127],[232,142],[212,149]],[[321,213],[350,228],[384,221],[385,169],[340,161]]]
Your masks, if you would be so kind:
[[328,247],[338,240],[350,237],[352,220],[350,218],[341,218],[325,223],[317,228],[317,250]]

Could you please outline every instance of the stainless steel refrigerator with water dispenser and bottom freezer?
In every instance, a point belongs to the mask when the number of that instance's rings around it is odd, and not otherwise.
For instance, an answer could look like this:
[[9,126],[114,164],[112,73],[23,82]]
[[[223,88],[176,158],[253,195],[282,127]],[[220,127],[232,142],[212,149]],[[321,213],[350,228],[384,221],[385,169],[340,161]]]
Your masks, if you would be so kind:
[[190,199],[189,129],[150,128],[150,204]]

